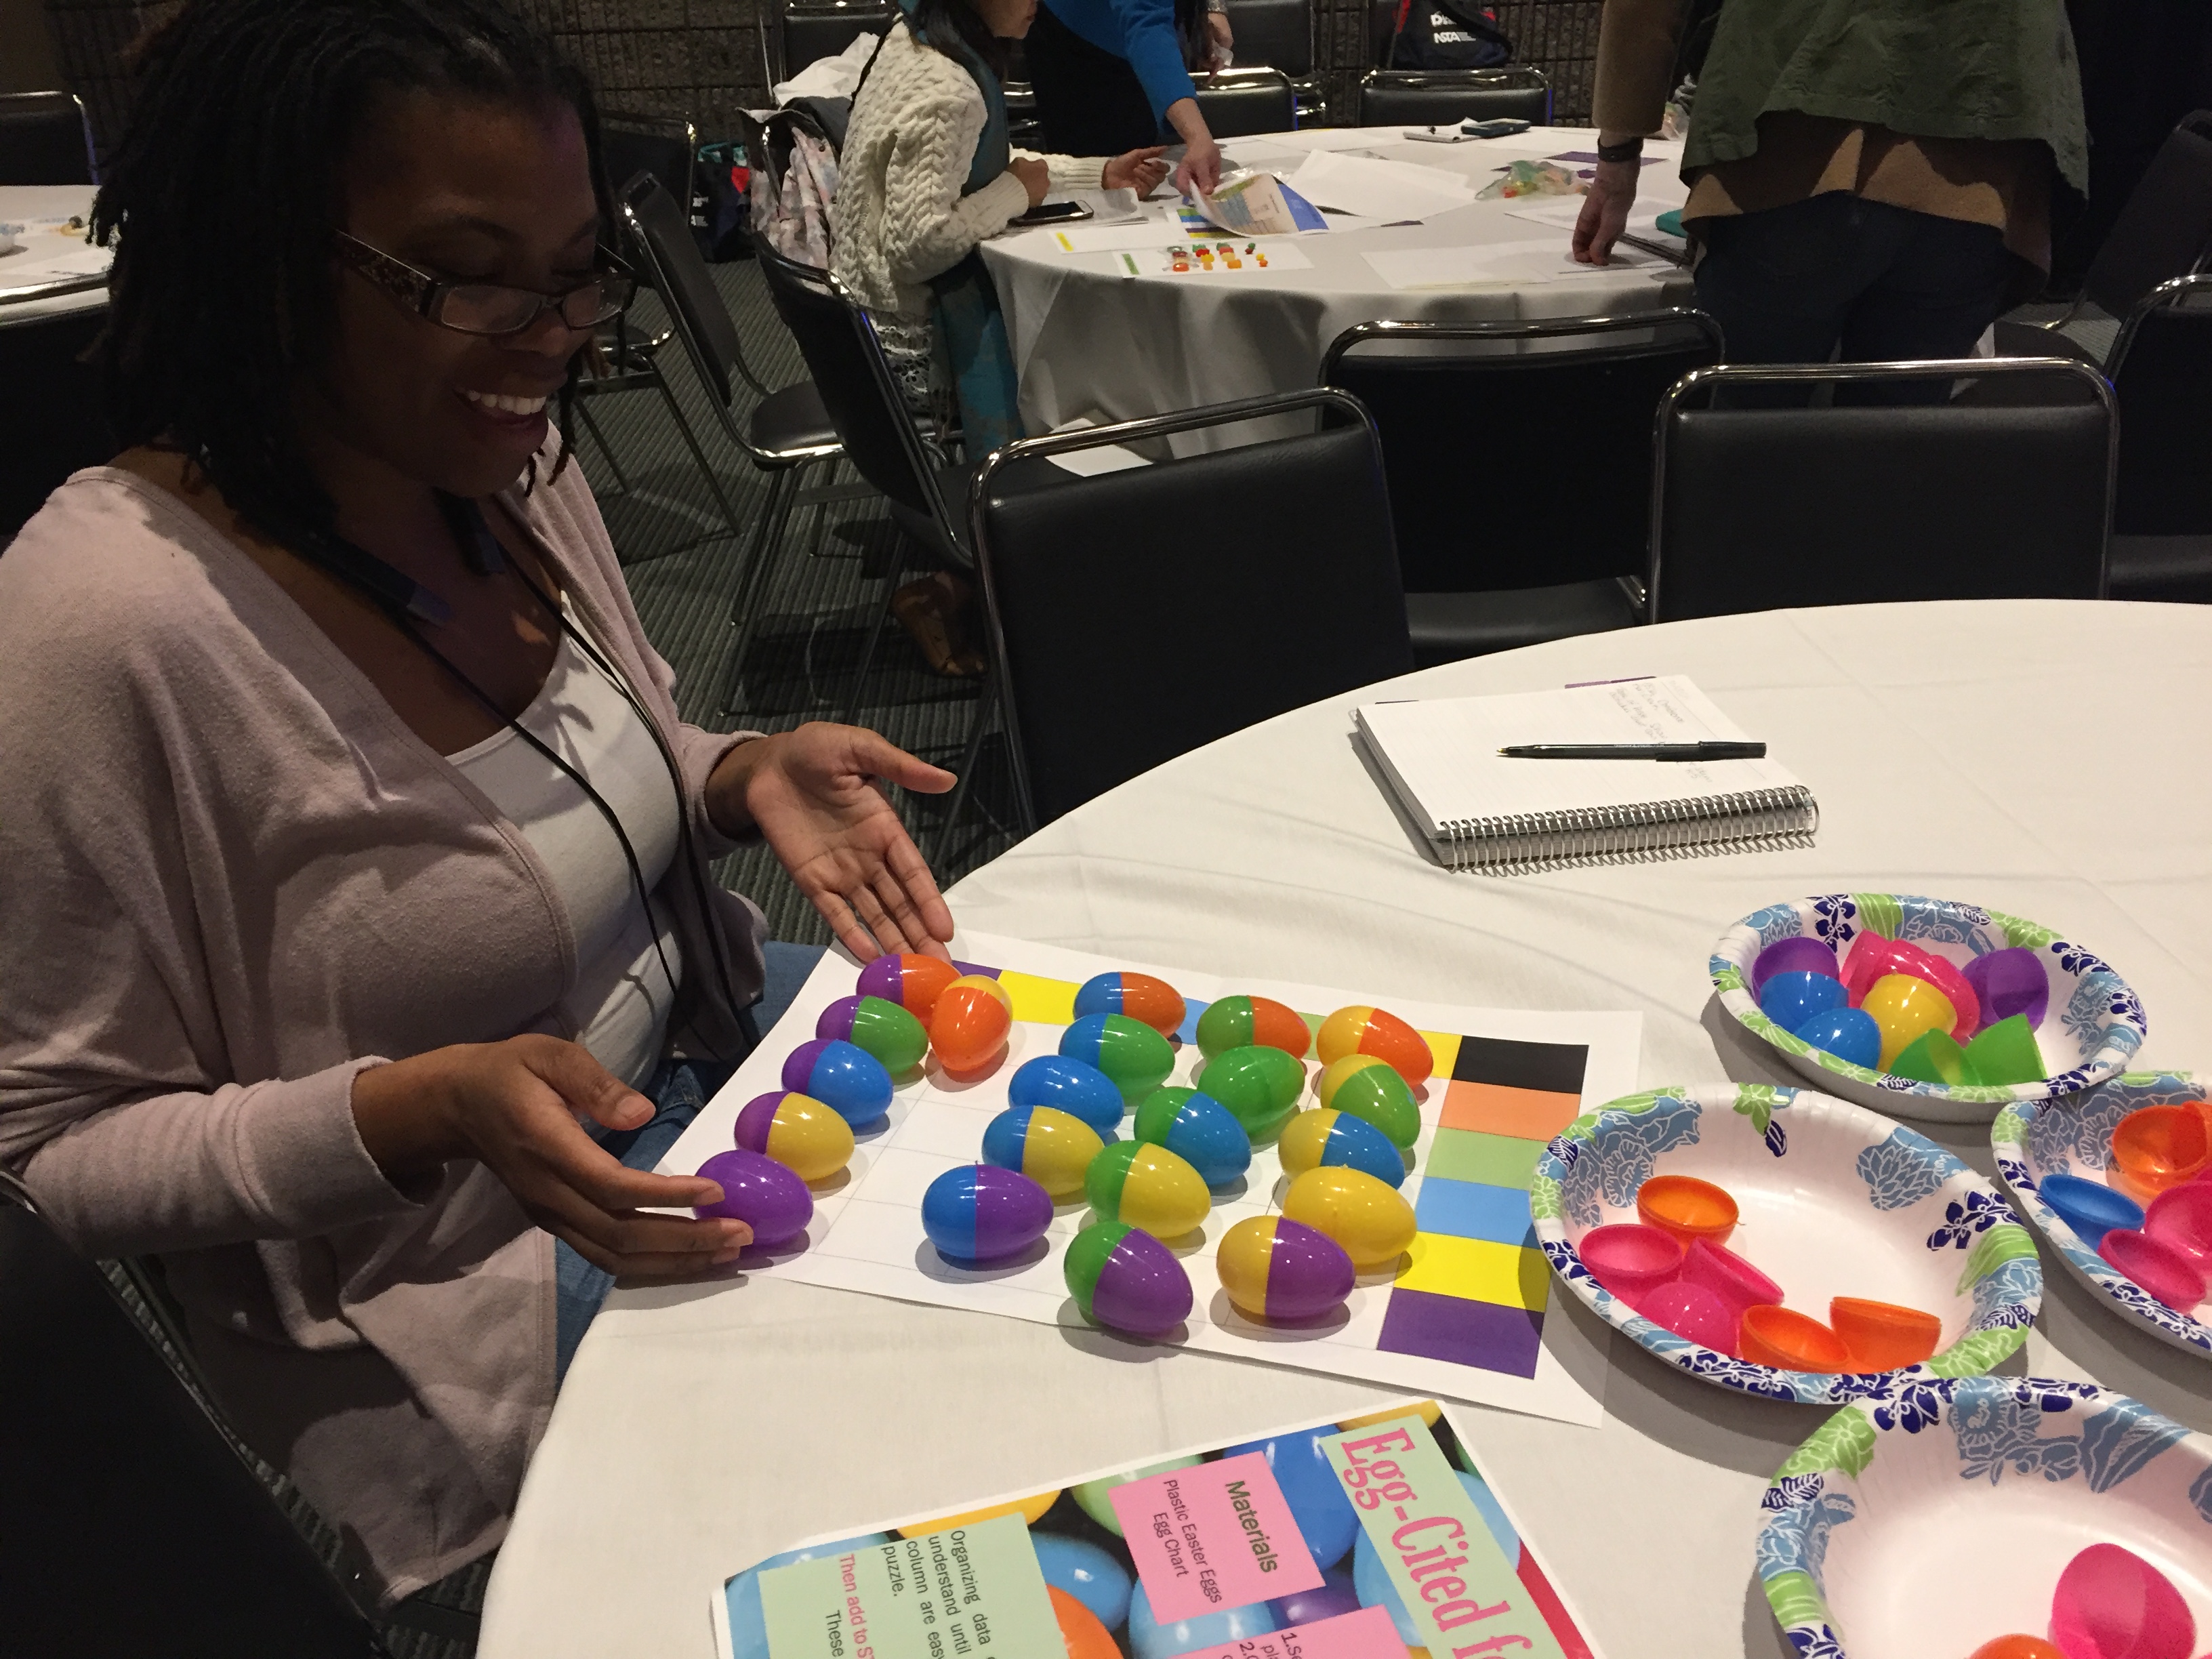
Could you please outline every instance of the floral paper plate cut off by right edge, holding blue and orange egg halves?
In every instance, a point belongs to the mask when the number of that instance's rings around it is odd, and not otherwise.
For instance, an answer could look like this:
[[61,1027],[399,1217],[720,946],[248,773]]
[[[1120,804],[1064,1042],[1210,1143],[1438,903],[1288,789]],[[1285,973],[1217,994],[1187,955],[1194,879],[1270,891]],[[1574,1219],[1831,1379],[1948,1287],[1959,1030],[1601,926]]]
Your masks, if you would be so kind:
[[2104,1166],[2112,1152],[2112,1128],[2121,1117],[2139,1106],[2177,1106],[2203,1097],[2205,1086],[2190,1082],[2188,1073],[2130,1071],[2086,1095],[2006,1106],[1989,1128],[1989,1144],[1997,1155],[1997,1175],[2013,1188],[2028,1221],[2051,1239],[2051,1248],[2079,1279],[2128,1318],[2148,1325],[2152,1336],[2199,1358],[2212,1358],[2212,1325],[2174,1312],[2119,1272],[2081,1243],[2081,1234],[2068,1228],[2037,1192],[2046,1175],[2079,1175],[2084,1181],[2108,1186]]

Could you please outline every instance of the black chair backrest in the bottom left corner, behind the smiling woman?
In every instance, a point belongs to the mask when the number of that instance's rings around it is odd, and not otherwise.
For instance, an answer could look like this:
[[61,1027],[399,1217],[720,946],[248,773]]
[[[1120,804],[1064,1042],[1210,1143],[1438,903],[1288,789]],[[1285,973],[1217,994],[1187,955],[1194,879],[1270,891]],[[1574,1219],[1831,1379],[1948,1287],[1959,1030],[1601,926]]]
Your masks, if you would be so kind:
[[100,1272],[0,1172],[9,1652],[380,1655]]

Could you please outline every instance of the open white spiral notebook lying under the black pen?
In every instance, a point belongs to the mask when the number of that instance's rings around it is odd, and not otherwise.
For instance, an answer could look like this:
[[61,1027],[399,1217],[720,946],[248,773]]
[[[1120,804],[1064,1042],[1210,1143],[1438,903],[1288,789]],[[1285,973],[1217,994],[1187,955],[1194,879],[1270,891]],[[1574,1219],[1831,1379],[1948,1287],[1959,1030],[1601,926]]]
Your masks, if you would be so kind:
[[1812,790],[1778,761],[1511,761],[1506,743],[1750,737],[1686,677],[1365,703],[1360,739],[1451,869],[1803,845]]

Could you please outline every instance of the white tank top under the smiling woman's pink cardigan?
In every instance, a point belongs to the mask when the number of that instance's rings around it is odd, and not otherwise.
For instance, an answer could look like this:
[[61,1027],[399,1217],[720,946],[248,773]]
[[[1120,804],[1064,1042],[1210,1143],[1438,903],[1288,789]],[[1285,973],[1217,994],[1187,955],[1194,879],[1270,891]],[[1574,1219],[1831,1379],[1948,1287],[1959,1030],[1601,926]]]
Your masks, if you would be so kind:
[[[615,810],[637,852],[646,891],[655,891],[677,852],[675,783],[637,710],[568,633],[560,637],[544,688],[522,710],[522,726]],[[591,796],[513,728],[447,759],[491,796],[553,874],[553,889],[575,931],[577,980],[560,1004],[575,1040],[622,1082],[641,1086],[659,1064],[675,1002],[661,953],[677,982],[684,978],[666,911],[655,905],[655,951],[615,832]]]

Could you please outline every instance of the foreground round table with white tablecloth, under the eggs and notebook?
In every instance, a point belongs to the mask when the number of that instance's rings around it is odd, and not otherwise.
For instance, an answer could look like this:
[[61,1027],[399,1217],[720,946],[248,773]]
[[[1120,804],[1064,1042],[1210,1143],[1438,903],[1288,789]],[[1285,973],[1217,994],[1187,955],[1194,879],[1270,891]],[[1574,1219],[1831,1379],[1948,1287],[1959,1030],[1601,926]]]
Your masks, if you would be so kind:
[[[1721,929],[1836,889],[1969,898],[2064,927],[2141,991],[2146,1062],[2212,1060],[2212,608],[1854,606],[1681,622],[1433,668],[1186,754],[951,891],[964,927],[1137,962],[1455,1004],[1639,1009],[1646,1086],[1798,1082],[1705,980]],[[1694,675],[1820,799],[1818,845],[1542,876],[1425,860],[1363,770],[1378,695]],[[958,947],[956,947],[958,949]],[[1927,1126],[1991,1172],[1982,1128]],[[2097,1378],[2212,1429],[2212,1369],[2044,1259],[2004,1369]],[[1688,1378],[1579,1301],[1546,1343],[1604,1374],[1579,1429],[1458,1422],[1610,1659],[1785,1655],[1759,1493],[1827,1416]],[[480,1655],[712,1652],[708,1597],[816,1533],[1347,1416],[1360,1383],[1144,1352],[1015,1318],[750,1279],[617,1290],[568,1371],[491,1579]]]

